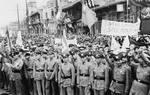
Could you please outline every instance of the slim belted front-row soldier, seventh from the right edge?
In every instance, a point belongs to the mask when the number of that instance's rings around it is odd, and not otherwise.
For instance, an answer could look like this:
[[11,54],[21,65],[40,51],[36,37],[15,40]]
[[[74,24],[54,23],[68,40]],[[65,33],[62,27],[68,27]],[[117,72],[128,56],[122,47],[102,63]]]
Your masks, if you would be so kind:
[[45,95],[44,92],[44,66],[45,61],[43,60],[41,56],[41,52],[39,50],[36,50],[36,58],[34,60],[33,65],[33,77],[36,82],[36,89],[38,95]]

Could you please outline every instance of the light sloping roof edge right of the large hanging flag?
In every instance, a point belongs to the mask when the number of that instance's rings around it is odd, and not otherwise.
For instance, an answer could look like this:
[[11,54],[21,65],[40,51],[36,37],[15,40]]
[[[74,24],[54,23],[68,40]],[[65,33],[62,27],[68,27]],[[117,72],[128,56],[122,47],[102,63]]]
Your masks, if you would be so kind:
[[113,6],[113,5],[116,5],[116,4],[119,4],[119,3],[124,3],[124,2],[126,2],[126,0],[117,0],[117,1],[110,2],[110,3],[108,3],[108,4],[105,4],[105,5],[103,5],[103,6],[94,7],[94,8],[92,8],[92,9],[93,9],[93,10],[98,10],[98,9],[106,8],[106,7]]

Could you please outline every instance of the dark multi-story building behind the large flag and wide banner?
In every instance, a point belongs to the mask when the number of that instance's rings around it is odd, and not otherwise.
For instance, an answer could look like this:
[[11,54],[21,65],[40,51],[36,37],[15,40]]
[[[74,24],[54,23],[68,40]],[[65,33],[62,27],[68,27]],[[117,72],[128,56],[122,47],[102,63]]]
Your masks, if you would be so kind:
[[[94,34],[101,32],[101,20],[112,20],[119,22],[135,22],[136,15],[127,7],[127,0],[84,0],[93,11],[96,12],[98,22],[92,27]],[[67,13],[72,23],[76,23],[77,31],[89,31],[88,27],[82,24],[82,2],[75,0],[72,3],[64,5],[63,12]]]

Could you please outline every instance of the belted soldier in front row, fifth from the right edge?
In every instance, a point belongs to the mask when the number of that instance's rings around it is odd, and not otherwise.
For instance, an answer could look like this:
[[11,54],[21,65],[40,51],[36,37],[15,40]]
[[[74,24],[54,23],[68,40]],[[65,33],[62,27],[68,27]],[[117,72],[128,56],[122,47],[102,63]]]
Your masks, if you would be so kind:
[[60,95],[73,95],[75,69],[73,64],[69,63],[69,52],[64,52],[62,57],[63,63],[59,67]]

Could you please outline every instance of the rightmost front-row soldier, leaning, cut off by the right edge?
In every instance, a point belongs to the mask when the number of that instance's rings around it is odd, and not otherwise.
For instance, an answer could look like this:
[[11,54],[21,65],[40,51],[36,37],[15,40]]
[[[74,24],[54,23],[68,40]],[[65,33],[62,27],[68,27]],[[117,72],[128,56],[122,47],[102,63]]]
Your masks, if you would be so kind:
[[145,51],[142,50],[142,53],[138,57],[139,65],[136,68],[136,78],[132,83],[129,95],[148,95],[149,93],[150,61],[146,56]]

